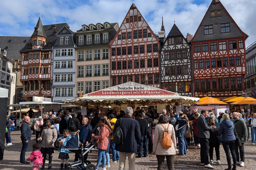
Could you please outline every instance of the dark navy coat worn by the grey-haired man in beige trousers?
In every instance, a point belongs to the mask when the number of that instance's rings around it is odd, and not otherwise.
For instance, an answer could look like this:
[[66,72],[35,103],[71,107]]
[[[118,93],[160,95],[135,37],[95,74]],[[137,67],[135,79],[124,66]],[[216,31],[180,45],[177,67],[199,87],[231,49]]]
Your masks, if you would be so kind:
[[[116,121],[114,133],[116,128],[120,125],[121,118]],[[122,118],[123,126],[123,147],[122,143],[115,146],[115,149],[120,152],[136,153],[137,146],[140,142],[141,133],[139,122],[134,120],[131,116],[124,116]]]

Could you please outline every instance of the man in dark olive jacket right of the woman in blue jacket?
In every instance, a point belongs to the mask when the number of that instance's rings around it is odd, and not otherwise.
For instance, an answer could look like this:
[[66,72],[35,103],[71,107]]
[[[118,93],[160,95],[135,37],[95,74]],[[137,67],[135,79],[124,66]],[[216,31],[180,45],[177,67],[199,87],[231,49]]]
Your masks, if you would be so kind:
[[[242,143],[241,146],[236,146],[236,162],[237,162],[236,164],[244,167],[244,159],[245,159],[244,143],[247,142],[248,133],[247,133],[247,126],[245,122],[241,118],[239,118],[238,114],[239,113],[237,112],[233,112],[232,114],[234,124],[235,124],[235,132],[237,133],[237,137],[241,140],[241,143]],[[241,162],[239,162],[238,148],[240,151]]]

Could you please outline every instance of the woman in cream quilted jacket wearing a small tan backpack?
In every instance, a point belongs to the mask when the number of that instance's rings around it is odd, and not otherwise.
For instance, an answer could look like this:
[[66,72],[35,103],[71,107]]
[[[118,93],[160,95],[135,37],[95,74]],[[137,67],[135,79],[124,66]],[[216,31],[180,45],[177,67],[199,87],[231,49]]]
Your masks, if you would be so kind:
[[[169,133],[169,137],[172,141],[172,145],[170,146],[163,146],[163,140],[165,130]],[[169,139],[169,140],[170,140]],[[168,141],[168,140],[167,140]],[[170,144],[170,141],[168,142]],[[169,124],[169,117],[166,114],[163,114],[159,117],[159,124],[155,127],[155,135],[154,135],[154,142],[153,142],[153,152],[156,154],[157,158],[157,169],[164,168],[164,158],[166,157],[167,167],[169,170],[174,170],[174,155],[176,155],[176,137],[175,131],[172,125]]]

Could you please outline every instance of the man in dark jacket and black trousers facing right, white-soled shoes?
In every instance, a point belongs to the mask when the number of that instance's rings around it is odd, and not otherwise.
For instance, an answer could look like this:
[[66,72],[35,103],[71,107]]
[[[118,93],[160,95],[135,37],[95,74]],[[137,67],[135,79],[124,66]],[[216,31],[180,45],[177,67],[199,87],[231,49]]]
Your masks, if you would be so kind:
[[200,156],[201,156],[201,165],[204,165],[205,168],[214,169],[212,165],[209,164],[209,138],[210,130],[216,129],[216,126],[208,126],[205,118],[208,117],[208,111],[202,110],[201,115],[197,119],[198,126],[198,138],[200,139]]

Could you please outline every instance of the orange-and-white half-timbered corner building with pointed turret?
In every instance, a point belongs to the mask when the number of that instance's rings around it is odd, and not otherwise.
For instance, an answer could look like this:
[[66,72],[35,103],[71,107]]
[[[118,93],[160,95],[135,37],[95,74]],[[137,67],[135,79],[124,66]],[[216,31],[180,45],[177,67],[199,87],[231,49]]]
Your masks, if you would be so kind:
[[52,48],[58,30],[66,23],[43,25],[39,17],[33,35],[20,51],[23,98],[32,101],[33,96],[52,98]]

